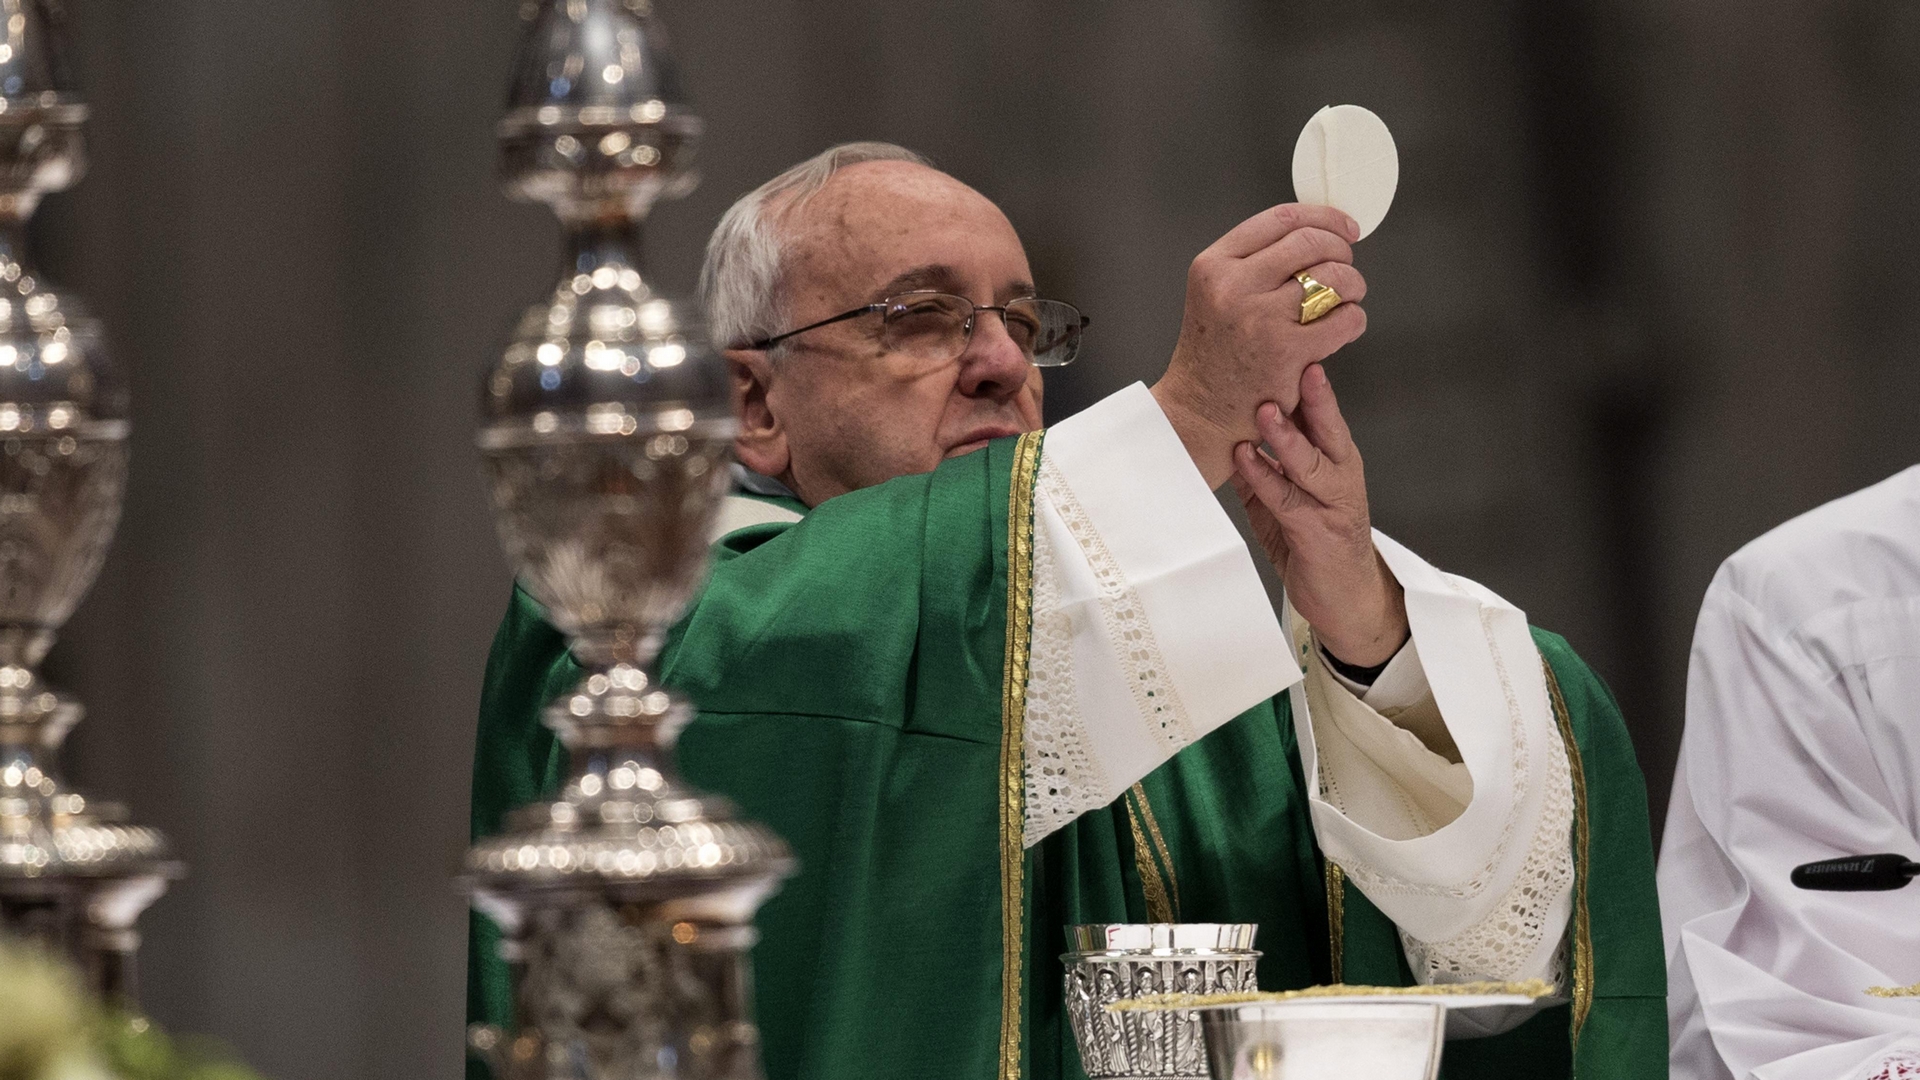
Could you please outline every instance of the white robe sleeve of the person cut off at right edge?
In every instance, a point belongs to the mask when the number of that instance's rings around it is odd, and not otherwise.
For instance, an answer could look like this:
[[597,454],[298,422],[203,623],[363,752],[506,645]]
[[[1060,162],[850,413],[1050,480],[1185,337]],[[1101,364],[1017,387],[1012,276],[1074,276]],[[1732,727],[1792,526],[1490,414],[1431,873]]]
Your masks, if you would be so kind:
[[1661,849],[1676,1080],[1920,1076],[1920,899],[1803,892],[1789,872],[1836,855],[1920,853],[1832,657],[1741,596],[1707,590],[1688,669],[1686,736]]

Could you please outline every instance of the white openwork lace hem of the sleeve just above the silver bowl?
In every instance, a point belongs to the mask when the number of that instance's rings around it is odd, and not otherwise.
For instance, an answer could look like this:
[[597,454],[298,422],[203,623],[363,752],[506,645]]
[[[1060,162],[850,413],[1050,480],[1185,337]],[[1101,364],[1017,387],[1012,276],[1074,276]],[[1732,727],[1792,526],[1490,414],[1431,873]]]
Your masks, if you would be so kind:
[[[1548,755],[1546,801],[1540,824],[1534,828],[1521,874],[1500,897],[1494,911],[1444,942],[1421,942],[1400,932],[1407,963],[1425,984],[1509,980],[1526,972],[1528,961],[1540,953],[1540,944],[1551,932],[1548,915],[1572,888],[1572,771],[1565,748]],[[1553,978],[1559,982],[1565,965],[1555,955]]]

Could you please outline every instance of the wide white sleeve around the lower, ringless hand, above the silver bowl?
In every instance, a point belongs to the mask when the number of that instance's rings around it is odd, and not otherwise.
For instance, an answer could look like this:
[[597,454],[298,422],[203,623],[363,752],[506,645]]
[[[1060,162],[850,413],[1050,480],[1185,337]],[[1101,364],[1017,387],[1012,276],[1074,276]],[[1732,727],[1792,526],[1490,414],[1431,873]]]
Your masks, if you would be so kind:
[[[1402,655],[1419,661],[1430,698],[1375,709],[1290,619],[1308,665],[1292,705],[1321,849],[1400,926],[1421,982],[1557,980],[1572,774],[1526,615],[1380,532],[1375,546],[1405,588]],[[1402,675],[1392,696],[1411,692]]]

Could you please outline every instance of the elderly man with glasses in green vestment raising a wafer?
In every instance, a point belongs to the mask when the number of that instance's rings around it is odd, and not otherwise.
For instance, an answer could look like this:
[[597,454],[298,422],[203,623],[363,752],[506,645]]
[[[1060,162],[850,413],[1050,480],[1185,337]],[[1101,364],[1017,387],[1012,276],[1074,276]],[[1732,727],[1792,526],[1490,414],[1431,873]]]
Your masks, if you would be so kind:
[[[1356,236],[1311,206],[1235,227],[1192,263],[1165,377],[1043,430],[1081,319],[979,192],[849,144],[722,219],[701,284],[739,490],[660,675],[701,707],[687,776],[801,859],[758,919],[768,1076],[1083,1076],[1064,928],[1146,920],[1258,922],[1267,990],[1559,988],[1452,1043],[1452,1078],[1665,1076],[1613,698],[1369,525],[1319,363],[1365,329]],[[1302,271],[1348,304],[1302,323]],[[576,676],[516,592],[476,834],[559,782],[538,715]],[[497,930],[472,942],[470,1011],[505,1022]]]

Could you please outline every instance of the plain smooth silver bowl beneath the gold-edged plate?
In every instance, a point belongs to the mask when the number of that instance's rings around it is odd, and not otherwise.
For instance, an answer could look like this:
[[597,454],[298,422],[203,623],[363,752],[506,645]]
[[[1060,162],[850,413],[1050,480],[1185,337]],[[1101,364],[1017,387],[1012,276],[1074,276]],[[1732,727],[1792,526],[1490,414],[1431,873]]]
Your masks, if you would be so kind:
[[1198,1009],[1213,1080],[1434,1080],[1442,1001],[1260,1001]]

